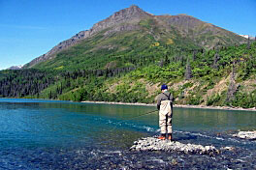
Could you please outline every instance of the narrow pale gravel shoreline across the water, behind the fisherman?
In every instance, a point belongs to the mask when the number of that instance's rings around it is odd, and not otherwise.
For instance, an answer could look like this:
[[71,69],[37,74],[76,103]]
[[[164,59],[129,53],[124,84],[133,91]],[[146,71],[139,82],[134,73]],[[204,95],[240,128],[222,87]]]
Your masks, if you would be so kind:
[[[156,103],[141,103],[141,102],[113,102],[113,101],[80,101],[86,103],[102,103],[102,104],[121,104],[121,105],[143,105],[143,106],[156,106]],[[203,108],[203,109],[219,109],[219,110],[238,110],[238,111],[256,111],[256,107],[253,108],[241,108],[241,107],[229,107],[229,106],[207,106],[207,105],[179,105],[175,104],[177,108]]]

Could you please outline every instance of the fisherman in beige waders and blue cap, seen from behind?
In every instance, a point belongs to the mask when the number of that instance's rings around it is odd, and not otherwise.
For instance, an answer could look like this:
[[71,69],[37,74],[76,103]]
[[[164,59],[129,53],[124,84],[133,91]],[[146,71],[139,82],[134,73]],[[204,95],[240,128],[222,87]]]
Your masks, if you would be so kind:
[[161,135],[159,139],[173,139],[172,117],[173,117],[173,95],[168,92],[166,84],[161,86],[162,93],[157,96],[157,109],[159,110],[159,127],[161,129]]

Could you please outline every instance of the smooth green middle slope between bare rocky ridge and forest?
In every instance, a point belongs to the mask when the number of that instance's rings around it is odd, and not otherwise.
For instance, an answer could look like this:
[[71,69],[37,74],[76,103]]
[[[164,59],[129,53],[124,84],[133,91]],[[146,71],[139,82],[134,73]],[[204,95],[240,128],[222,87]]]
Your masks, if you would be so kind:
[[[84,40],[56,54],[56,57],[35,65],[34,69],[50,70],[90,70],[124,67],[141,67],[151,62],[158,62],[163,56],[171,56],[180,51],[179,48],[200,49],[190,40],[180,40],[177,33],[161,35],[155,41],[148,29],[149,21],[140,22],[145,28],[135,31],[117,32],[108,37],[102,31],[91,39]],[[154,31],[154,36],[160,34]],[[174,36],[176,34],[176,36]],[[170,39],[170,37],[176,37]]]

